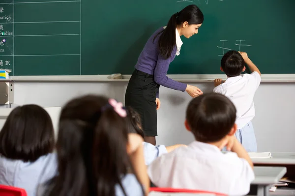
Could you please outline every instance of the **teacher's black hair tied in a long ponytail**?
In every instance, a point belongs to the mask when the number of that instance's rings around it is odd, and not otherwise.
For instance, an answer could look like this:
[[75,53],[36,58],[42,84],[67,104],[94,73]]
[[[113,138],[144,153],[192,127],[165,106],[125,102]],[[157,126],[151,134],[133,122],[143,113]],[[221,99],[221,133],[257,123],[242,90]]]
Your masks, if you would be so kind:
[[[169,58],[171,53],[176,46],[176,33],[175,29],[177,25],[181,25],[187,22],[188,25],[199,25],[204,21],[204,15],[197,5],[188,5],[183,8],[180,12],[173,14],[164,30],[159,34],[159,53],[165,57]],[[158,34],[158,35],[159,35]],[[158,36],[156,35],[155,38]]]

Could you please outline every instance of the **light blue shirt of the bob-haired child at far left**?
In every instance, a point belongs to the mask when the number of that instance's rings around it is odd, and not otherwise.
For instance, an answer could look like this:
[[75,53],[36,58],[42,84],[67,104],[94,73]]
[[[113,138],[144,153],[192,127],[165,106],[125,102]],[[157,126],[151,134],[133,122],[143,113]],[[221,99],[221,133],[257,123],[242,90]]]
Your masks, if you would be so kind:
[[0,184],[23,188],[28,196],[36,196],[38,186],[53,178],[57,171],[56,153],[41,156],[34,162],[0,155]]

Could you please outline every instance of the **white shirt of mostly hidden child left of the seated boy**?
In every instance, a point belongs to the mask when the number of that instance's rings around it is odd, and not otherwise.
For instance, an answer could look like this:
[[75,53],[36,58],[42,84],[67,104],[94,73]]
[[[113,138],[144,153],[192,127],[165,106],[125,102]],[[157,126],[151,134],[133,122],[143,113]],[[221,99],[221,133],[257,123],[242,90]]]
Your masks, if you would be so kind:
[[152,144],[149,144],[148,142],[143,142],[143,146],[144,157],[147,166],[162,154],[167,153],[167,149],[164,145],[154,146]]

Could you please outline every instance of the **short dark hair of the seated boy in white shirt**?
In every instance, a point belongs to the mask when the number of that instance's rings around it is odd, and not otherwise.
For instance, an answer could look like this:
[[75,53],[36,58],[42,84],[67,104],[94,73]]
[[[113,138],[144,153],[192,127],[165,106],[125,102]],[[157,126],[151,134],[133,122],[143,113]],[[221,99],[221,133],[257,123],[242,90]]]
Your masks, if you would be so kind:
[[186,121],[199,142],[217,142],[236,121],[236,107],[224,95],[209,93],[194,98],[186,110]]

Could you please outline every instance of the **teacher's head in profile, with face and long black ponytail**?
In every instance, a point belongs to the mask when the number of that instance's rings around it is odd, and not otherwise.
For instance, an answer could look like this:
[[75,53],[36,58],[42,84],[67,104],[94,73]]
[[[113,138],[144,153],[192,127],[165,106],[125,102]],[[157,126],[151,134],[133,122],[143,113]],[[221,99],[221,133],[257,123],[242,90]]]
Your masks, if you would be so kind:
[[180,12],[173,14],[159,37],[159,52],[165,58],[169,58],[176,47],[176,28],[179,35],[190,38],[198,33],[203,24],[204,15],[197,5],[188,5]]

